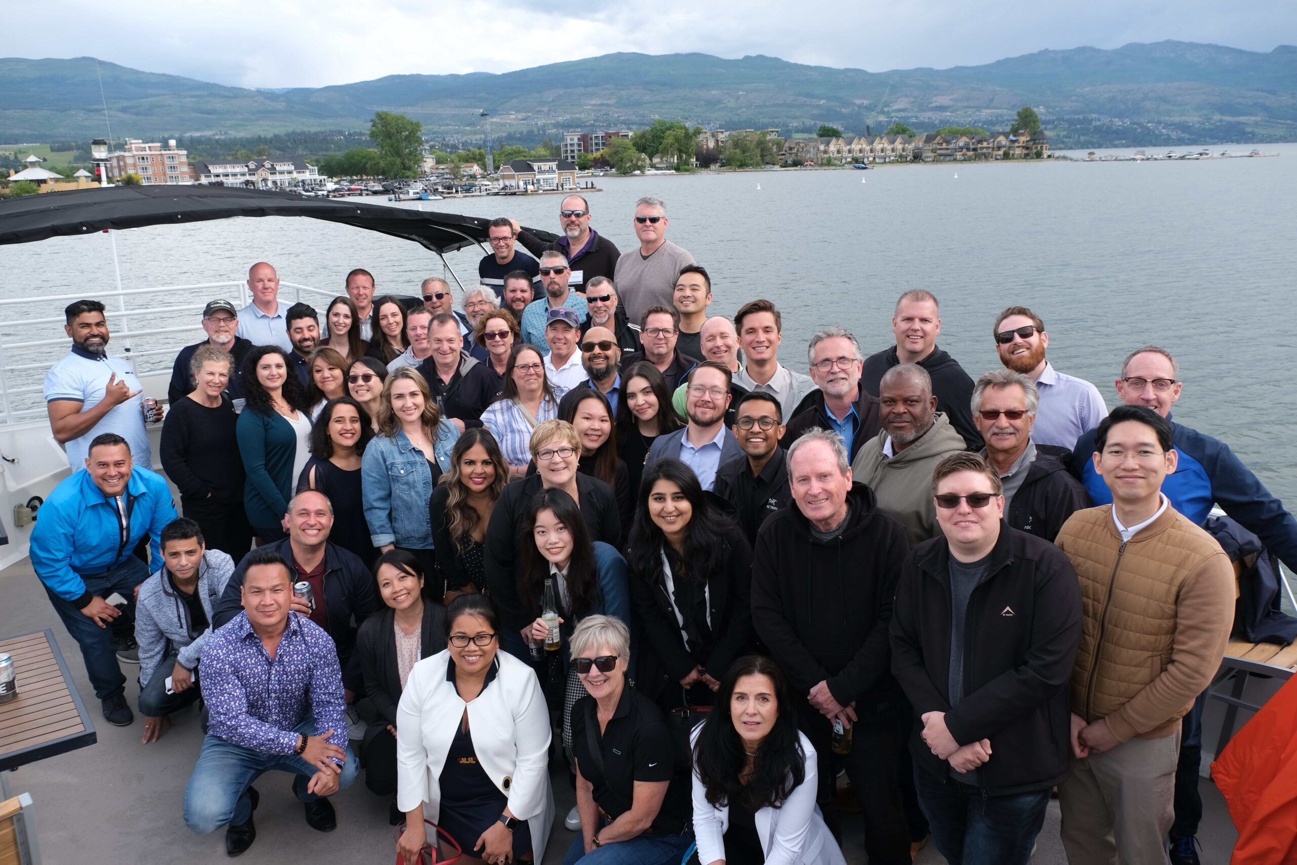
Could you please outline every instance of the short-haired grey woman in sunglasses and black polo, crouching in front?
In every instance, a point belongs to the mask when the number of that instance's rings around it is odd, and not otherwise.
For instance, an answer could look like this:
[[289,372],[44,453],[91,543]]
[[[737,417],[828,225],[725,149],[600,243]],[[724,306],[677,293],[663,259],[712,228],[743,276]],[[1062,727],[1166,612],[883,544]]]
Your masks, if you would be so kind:
[[626,682],[630,630],[612,616],[588,616],[571,643],[588,695],[571,712],[581,834],[563,865],[677,865],[694,840],[689,765],[680,765],[661,711]]

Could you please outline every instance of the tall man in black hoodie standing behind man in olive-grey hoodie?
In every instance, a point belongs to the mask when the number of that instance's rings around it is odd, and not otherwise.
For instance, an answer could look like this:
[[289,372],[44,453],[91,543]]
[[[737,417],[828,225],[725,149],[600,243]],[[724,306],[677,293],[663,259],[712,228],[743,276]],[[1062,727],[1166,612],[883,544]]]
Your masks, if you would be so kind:
[[964,437],[969,450],[982,449],[982,434],[973,425],[969,399],[973,397],[973,379],[958,361],[936,348],[942,332],[942,310],[931,292],[922,288],[905,292],[896,301],[892,315],[892,333],[896,345],[865,358],[860,375],[861,386],[874,397],[883,373],[900,363],[917,363],[933,379],[936,410],[951,419],[951,425]]

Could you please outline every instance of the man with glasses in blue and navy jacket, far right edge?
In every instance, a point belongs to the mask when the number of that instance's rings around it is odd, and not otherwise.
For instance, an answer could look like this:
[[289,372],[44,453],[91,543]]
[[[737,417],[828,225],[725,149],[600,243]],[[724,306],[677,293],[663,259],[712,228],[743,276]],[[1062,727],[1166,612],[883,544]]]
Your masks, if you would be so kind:
[[[1175,358],[1156,345],[1134,351],[1122,364],[1117,394],[1127,406],[1148,406],[1171,420],[1171,406],[1184,386],[1178,379]],[[1243,524],[1270,547],[1279,560],[1297,569],[1297,519],[1284,508],[1265,484],[1243,464],[1230,446],[1196,429],[1171,421],[1171,433],[1179,463],[1167,475],[1162,492],[1171,507],[1202,525],[1219,504],[1226,514]],[[1109,504],[1112,492],[1095,472],[1095,431],[1077,440],[1073,471],[1086,485],[1095,504]],[[1175,822],[1171,826],[1172,865],[1197,865],[1195,835],[1202,820],[1198,795],[1198,763],[1202,759],[1202,707],[1206,695],[1198,696],[1184,716],[1180,739],[1180,763],[1175,772]]]

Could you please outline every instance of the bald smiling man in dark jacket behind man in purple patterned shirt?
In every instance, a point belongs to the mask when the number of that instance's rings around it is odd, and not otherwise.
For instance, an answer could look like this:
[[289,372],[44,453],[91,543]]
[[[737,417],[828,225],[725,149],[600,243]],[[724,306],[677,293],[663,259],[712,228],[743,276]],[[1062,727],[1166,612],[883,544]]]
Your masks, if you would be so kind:
[[[354,517],[363,519],[363,517]],[[379,608],[374,593],[374,576],[361,558],[328,542],[333,528],[333,506],[328,497],[316,490],[298,493],[288,502],[288,537],[266,545],[283,556],[292,569],[293,582],[309,582],[314,604],[293,597],[293,612],[306,616],[328,632],[337,646],[337,660],[342,665],[342,685],[346,702],[354,703],[363,694],[359,659],[354,654],[355,632],[366,617]],[[261,549],[261,547],[258,547]],[[248,555],[252,555],[250,552]],[[211,628],[215,630],[239,615],[243,607],[244,562],[226,584],[217,602]]]

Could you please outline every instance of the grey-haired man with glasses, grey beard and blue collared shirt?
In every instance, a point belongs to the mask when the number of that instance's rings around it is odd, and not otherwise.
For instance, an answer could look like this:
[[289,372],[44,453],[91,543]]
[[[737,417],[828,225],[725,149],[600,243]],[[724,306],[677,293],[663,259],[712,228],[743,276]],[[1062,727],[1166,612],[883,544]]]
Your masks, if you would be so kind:
[[808,429],[831,429],[855,459],[860,446],[878,434],[878,399],[860,386],[860,342],[844,327],[826,327],[811,337],[807,350],[811,380],[818,390],[808,393],[792,410],[781,446],[787,447]]

